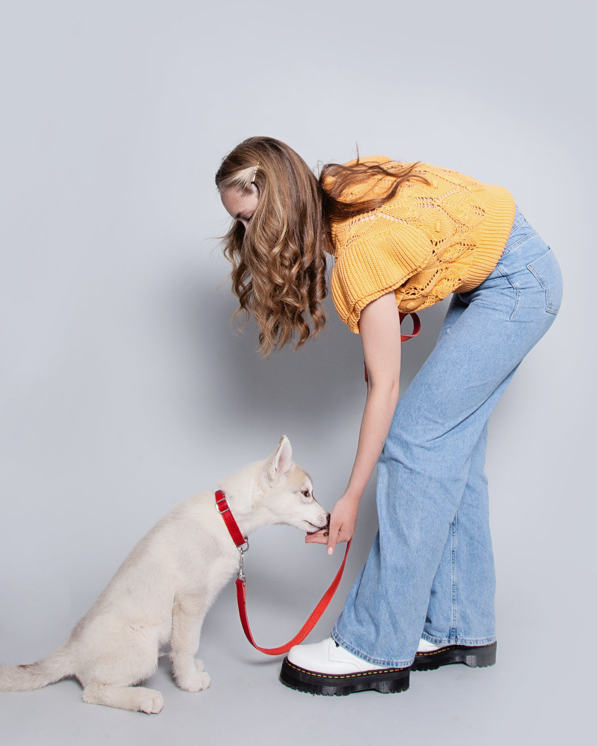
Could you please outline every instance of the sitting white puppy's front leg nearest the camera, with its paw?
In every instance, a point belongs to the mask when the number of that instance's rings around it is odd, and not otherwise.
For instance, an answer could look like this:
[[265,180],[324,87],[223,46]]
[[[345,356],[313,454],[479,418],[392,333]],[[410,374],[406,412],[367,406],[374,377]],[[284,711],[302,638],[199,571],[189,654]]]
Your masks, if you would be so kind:
[[170,658],[175,682],[187,692],[201,692],[210,686],[203,661],[195,659],[207,603],[196,594],[176,595],[172,606]]

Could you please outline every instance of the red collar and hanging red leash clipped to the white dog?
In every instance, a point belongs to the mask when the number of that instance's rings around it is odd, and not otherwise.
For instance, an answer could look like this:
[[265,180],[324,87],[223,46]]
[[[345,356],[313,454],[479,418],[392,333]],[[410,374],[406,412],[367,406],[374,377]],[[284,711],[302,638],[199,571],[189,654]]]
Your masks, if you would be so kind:
[[240,553],[239,571],[237,574],[237,604],[238,612],[240,615],[240,623],[243,625],[246,639],[249,640],[254,648],[257,648],[257,650],[261,651],[262,653],[266,653],[266,655],[281,655],[282,653],[287,653],[288,651],[290,651],[290,648],[292,648],[293,645],[298,645],[305,639],[310,631],[313,630],[313,627],[315,627],[323,612],[325,612],[325,609],[328,608],[328,605],[334,597],[334,593],[336,592],[337,587],[340,585],[340,580],[342,580],[344,565],[346,565],[346,557],[348,557],[348,550],[350,549],[351,542],[348,542],[346,545],[344,559],[342,560],[340,569],[337,571],[336,577],[334,577],[334,580],[332,580],[331,586],[324,593],[321,601],[319,601],[319,604],[317,604],[315,609],[313,609],[313,613],[310,615],[307,621],[305,621],[305,623],[298,631],[298,633],[293,637],[293,639],[291,639],[290,642],[287,642],[286,645],[281,645],[280,648],[260,648],[253,639],[253,636],[251,634],[251,627],[249,627],[249,618],[247,617],[246,582],[245,575],[243,574],[243,559],[244,553],[247,551],[247,549],[249,549],[249,542],[247,541],[246,536],[243,536],[243,534],[241,533],[237,521],[234,520],[234,515],[232,515],[232,511],[230,510],[230,506],[228,505],[228,501],[226,500],[226,495],[224,494],[224,492],[222,492],[221,489],[216,492],[216,507],[219,510],[220,515],[222,515],[222,518],[224,518],[224,522],[226,524],[226,527],[228,528],[228,533],[230,533],[232,541],[234,542],[234,544],[237,545],[237,549]]

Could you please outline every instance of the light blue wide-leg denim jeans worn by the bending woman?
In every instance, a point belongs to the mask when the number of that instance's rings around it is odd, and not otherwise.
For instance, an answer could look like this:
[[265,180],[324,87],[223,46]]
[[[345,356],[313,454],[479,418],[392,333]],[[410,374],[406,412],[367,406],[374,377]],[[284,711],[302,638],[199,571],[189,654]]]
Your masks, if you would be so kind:
[[496,639],[487,419],[561,295],[553,252],[516,209],[496,269],[453,296],[434,351],[396,407],[378,462],[378,534],[332,632],[359,658],[402,667],[421,636]]

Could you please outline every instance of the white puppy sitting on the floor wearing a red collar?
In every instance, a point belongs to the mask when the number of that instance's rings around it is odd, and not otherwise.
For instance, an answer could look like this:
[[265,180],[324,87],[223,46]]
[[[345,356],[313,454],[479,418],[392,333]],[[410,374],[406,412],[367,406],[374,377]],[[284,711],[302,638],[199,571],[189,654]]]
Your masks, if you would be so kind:
[[[328,524],[309,475],[293,464],[286,436],[269,459],[226,477],[219,489],[243,536],[271,524],[307,532]],[[0,668],[0,692],[40,689],[76,676],[84,702],[160,712],[160,692],[133,685],[155,671],[167,642],[178,686],[206,689],[210,677],[194,657],[201,624],[238,560],[214,493],[182,501],[134,547],[68,642],[37,663]]]

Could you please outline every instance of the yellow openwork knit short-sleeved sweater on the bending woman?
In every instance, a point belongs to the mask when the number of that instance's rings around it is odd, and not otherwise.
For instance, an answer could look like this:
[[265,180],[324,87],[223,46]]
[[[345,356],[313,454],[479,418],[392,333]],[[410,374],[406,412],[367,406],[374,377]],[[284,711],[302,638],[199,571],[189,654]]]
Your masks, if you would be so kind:
[[[362,162],[391,159],[372,156]],[[361,310],[390,290],[402,313],[472,290],[493,272],[510,235],[515,204],[503,186],[428,163],[416,172],[430,184],[410,179],[380,209],[332,226],[331,295],[355,333]],[[369,198],[390,183],[351,187],[350,196]]]

